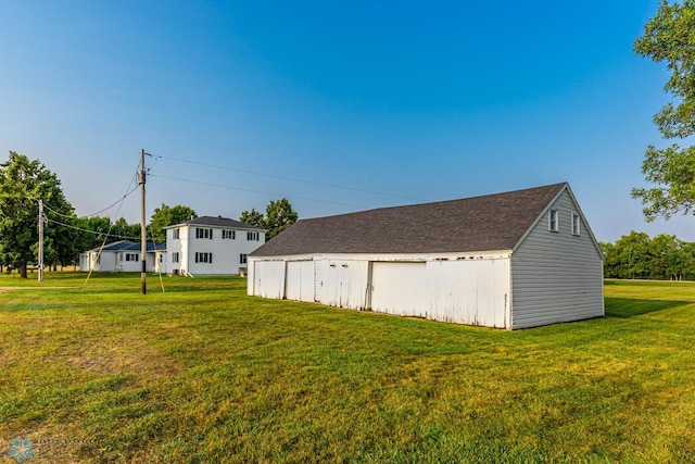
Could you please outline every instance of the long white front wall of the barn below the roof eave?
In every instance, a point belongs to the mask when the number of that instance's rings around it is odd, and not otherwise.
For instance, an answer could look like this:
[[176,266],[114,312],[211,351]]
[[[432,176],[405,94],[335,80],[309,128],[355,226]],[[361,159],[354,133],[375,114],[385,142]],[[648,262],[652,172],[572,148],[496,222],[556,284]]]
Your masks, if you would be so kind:
[[[249,294],[441,322],[509,326],[508,252],[467,258],[354,255],[275,260],[278,261],[250,260]],[[313,279],[306,278],[312,273]]]

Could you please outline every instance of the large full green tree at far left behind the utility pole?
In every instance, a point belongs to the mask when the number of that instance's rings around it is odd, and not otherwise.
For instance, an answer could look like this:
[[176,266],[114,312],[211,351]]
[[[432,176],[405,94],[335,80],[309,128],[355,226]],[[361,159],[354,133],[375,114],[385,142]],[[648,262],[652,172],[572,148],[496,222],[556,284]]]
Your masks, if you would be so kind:
[[[75,212],[61,189],[61,181],[40,161],[10,152],[0,164],[0,262],[26,278],[27,264],[38,262],[38,201],[63,217]],[[55,222],[45,228],[45,255],[55,262],[73,253],[71,233]]]

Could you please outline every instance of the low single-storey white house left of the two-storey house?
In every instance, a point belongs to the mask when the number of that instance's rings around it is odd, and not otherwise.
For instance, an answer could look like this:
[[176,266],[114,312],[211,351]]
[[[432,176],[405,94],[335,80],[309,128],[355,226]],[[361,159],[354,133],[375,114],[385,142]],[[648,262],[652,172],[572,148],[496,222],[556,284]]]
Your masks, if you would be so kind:
[[[89,272],[91,269],[104,273],[141,272],[140,251],[141,243],[129,240],[108,243],[103,248],[97,247],[79,255],[79,271]],[[164,272],[161,269],[160,259],[157,258],[164,251],[164,243],[147,242],[147,272]]]

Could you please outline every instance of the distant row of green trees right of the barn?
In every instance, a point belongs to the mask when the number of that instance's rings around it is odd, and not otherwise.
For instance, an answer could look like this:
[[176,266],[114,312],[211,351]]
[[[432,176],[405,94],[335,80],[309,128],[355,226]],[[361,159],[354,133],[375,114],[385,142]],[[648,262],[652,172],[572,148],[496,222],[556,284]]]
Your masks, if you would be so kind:
[[695,280],[695,242],[633,230],[615,243],[599,244],[606,278]]

